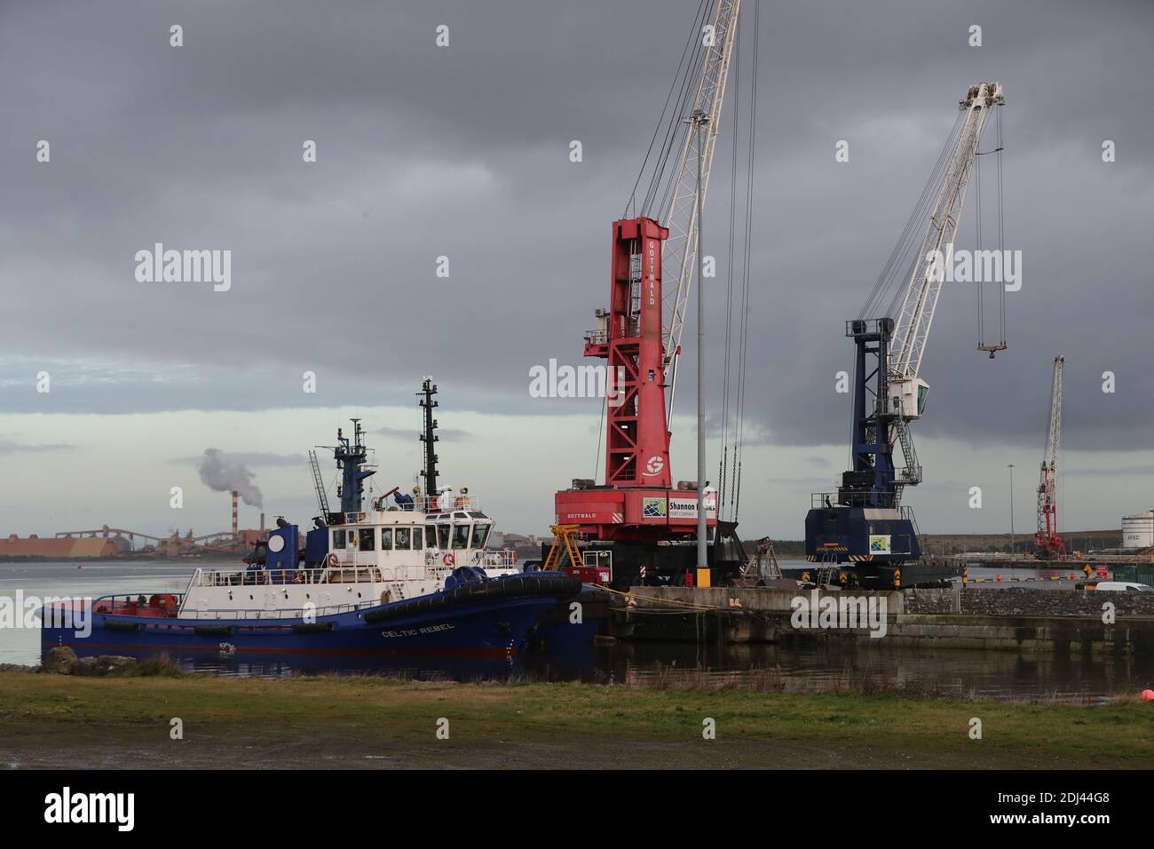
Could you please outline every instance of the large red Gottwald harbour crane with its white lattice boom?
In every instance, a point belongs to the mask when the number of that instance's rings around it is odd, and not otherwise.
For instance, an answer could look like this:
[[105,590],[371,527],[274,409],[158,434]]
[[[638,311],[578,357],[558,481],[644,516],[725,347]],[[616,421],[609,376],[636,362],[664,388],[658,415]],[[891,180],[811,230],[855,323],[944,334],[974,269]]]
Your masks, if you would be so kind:
[[[674,486],[669,469],[669,420],[698,248],[698,210],[709,186],[739,7],[740,0],[719,0],[712,30],[695,30],[712,37],[695,35],[687,44],[687,55],[690,47],[694,54],[688,64],[683,57],[685,82],[691,67],[699,73],[696,89],[682,87],[683,111],[670,113],[670,132],[680,129],[683,140],[680,164],[664,189],[662,201],[669,201],[666,225],[646,215],[613,223],[609,307],[597,311],[599,327],[585,335],[585,356],[605,359],[608,370],[605,482],[577,478],[556,493],[554,542],[542,546],[546,569],[562,567],[619,587],[683,581],[709,586],[732,580],[748,560],[734,533],[736,521],[719,521],[718,493],[706,482],[710,568],[698,574],[699,482]],[[684,109],[690,95],[691,111]],[[670,135],[665,152],[673,149]],[[653,186],[662,179],[657,173]],[[662,192],[653,186],[646,208],[661,202],[657,198]],[[734,559],[725,558],[727,539],[734,542]]]

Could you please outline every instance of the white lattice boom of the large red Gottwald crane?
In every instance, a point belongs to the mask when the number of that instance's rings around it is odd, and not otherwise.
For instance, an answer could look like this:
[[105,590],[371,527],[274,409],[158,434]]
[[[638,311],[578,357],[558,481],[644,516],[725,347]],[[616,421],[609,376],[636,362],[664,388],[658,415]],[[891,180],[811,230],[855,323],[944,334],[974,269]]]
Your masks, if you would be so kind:
[[713,166],[713,150],[717,146],[718,132],[721,128],[721,105],[725,100],[726,81],[729,76],[729,58],[733,53],[734,37],[737,33],[737,16],[741,0],[718,0],[713,15],[712,31],[703,33],[710,37],[705,44],[705,55],[702,59],[702,73],[697,81],[697,95],[694,98],[694,113],[704,116],[702,131],[704,144],[698,154],[694,143],[694,133],[687,128],[681,146],[681,159],[677,165],[677,177],[673,184],[673,196],[669,210],[662,223],[669,230],[665,243],[662,266],[665,277],[676,282],[668,286],[664,295],[662,313],[666,319],[661,333],[665,348],[665,366],[669,373],[669,407],[667,420],[673,418],[673,400],[677,383],[677,360],[681,357],[681,332],[685,325],[685,308],[689,304],[689,291],[697,265],[697,159],[700,157],[700,192],[702,204],[709,192],[710,171]]

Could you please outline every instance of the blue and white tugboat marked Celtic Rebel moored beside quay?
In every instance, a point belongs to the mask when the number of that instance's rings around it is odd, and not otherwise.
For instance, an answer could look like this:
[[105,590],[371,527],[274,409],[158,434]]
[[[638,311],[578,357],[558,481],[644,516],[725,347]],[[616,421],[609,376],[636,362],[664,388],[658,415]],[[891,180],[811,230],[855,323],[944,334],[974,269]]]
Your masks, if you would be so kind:
[[[44,611],[46,655],[249,653],[515,657],[538,620],[582,590],[580,579],[517,569],[512,552],[490,551],[493,520],[467,490],[437,489],[430,411],[424,387],[425,492],[394,487],[364,509],[368,448],[337,431],[340,509],[330,512],[316,453],[309,452],[322,515],[301,535],[283,519],[239,569],[198,568],[180,594],[104,596],[77,610]],[[389,499],[392,502],[389,502]],[[76,602],[72,604],[78,604]]]

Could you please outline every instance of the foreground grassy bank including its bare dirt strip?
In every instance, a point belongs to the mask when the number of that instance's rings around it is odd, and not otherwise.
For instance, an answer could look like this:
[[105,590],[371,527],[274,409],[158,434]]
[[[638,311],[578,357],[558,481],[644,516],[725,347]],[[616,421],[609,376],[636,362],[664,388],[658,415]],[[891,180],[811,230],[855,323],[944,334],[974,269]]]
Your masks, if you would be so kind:
[[[1154,705],[454,684],[373,677],[0,675],[17,766],[1154,766]],[[162,672],[155,675],[155,672]],[[183,739],[172,740],[179,717]],[[436,737],[439,720],[449,739]],[[971,720],[982,739],[971,739]],[[712,718],[717,739],[703,739]]]

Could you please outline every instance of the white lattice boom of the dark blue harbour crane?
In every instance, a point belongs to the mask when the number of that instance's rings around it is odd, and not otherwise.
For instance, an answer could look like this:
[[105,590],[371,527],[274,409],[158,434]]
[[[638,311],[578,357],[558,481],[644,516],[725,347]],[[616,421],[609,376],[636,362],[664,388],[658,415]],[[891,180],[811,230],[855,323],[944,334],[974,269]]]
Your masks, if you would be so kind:
[[[892,399],[901,397],[901,414],[906,419],[919,418],[924,400],[924,381],[919,380],[922,355],[934,323],[938,296],[942,293],[944,268],[942,262],[953,245],[958,223],[966,202],[966,187],[973,174],[977,146],[986,119],[994,106],[1005,103],[1002,83],[983,82],[972,85],[960,107],[966,119],[950,156],[945,177],[930,211],[929,224],[921,248],[914,254],[913,273],[901,299],[890,343],[891,407]],[[922,387],[920,390],[919,387]]]

